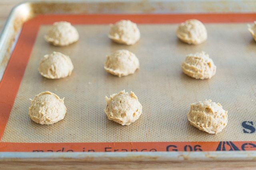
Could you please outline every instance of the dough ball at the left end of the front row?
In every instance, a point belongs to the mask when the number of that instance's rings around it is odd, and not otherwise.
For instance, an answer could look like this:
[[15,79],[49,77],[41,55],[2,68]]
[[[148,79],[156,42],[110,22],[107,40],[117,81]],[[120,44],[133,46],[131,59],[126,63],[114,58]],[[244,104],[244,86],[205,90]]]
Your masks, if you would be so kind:
[[64,119],[67,112],[64,98],[60,99],[56,94],[48,91],[36,95],[31,100],[28,110],[29,117],[42,125],[50,125]]

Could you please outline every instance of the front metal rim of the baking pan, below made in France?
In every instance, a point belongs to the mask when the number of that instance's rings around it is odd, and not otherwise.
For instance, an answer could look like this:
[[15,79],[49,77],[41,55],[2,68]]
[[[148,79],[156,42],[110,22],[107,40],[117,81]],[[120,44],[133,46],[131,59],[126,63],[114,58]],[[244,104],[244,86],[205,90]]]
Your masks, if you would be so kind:
[[[225,154],[224,154],[225,153]],[[213,151],[213,152],[69,152],[69,153],[31,153],[31,152],[0,152],[1,160],[38,159],[44,161],[82,160],[83,162],[99,161],[255,161],[256,151]]]

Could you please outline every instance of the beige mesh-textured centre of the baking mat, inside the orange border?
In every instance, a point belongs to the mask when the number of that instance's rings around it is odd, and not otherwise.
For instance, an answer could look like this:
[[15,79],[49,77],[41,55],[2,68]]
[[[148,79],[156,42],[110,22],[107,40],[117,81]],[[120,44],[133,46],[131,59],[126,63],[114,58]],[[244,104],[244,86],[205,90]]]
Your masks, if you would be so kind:
[[[160,141],[254,141],[256,133],[245,134],[241,123],[256,120],[256,48],[246,24],[206,24],[208,40],[198,46],[177,40],[176,24],[139,24],[141,40],[132,46],[117,45],[106,36],[108,25],[75,25],[78,43],[68,47],[48,45],[42,25],[1,142],[160,142]],[[134,75],[118,78],[104,71],[106,55],[128,49],[140,60]],[[68,78],[48,80],[38,73],[43,55],[60,51],[74,64]],[[184,75],[180,64],[185,55],[206,51],[217,66],[210,80]],[[140,119],[129,126],[109,121],[104,96],[134,91],[143,106]],[[65,97],[64,120],[38,125],[28,117],[29,98],[49,90]],[[210,135],[189,125],[190,103],[212,99],[228,110],[228,125]]]

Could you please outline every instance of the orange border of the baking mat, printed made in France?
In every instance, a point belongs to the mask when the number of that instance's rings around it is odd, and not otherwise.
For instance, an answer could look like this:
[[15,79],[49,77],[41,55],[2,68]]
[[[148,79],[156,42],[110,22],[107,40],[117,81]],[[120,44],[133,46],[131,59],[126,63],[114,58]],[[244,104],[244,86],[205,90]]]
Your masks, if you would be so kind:
[[[72,24],[108,24],[121,19],[136,23],[180,23],[196,18],[204,23],[252,22],[256,14],[92,14],[39,15],[24,23],[16,47],[0,82],[0,139],[18,93],[38,29],[42,24],[69,21]],[[108,151],[214,151],[256,150],[256,141],[245,142],[118,142],[118,143],[3,143],[0,152],[108,152]],[[118,150],[117,150],[118,149]],[[123,150],[122,150],[123,149]]]

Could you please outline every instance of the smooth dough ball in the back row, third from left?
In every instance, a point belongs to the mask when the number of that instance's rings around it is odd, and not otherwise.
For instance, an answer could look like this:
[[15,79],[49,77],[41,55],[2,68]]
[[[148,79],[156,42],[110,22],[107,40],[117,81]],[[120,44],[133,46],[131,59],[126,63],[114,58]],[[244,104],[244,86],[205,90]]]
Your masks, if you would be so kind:
[[198,45],[206,41],[207,31],[201,21],[192,19],[181,23],[176,30],[177,37],[188,44]]

